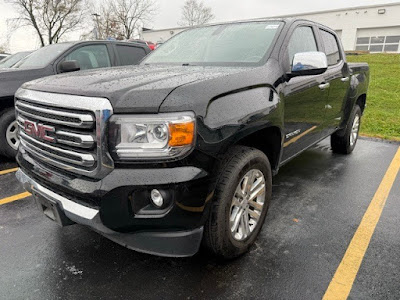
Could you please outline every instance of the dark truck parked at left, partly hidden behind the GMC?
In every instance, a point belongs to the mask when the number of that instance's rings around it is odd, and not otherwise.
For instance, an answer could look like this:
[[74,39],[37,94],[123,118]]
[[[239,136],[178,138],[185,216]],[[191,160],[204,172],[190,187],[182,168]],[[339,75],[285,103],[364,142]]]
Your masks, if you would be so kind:
[[15,157],[19,145],[14,94],[33,79],[78,70],[138,64],[150,49],[139,43],[84,41],[36,50],[12,68],[0,70],[0,154]]

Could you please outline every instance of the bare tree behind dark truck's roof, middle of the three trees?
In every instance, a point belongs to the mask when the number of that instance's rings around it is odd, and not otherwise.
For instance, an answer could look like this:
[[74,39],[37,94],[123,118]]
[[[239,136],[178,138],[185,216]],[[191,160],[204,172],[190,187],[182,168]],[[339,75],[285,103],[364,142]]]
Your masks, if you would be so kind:
[[140,26],[157,12],[154,0],[108,0],[104,14],[108,11],[109,25],[117,39],[131,39]]

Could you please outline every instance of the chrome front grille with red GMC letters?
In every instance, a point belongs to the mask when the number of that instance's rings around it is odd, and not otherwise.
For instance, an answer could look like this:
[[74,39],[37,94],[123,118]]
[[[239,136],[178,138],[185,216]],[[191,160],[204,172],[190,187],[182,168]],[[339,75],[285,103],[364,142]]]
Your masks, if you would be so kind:
[[106,142],[107,99],[19,90],[20,151],[69,173],[101,178],[113,168]]

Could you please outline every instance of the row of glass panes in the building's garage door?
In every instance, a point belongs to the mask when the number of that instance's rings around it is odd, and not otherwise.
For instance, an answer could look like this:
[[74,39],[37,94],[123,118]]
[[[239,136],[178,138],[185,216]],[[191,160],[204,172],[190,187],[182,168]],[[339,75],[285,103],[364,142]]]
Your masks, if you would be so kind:
[[398,52],[400,35],[357,38],[356,50],[370,52]]

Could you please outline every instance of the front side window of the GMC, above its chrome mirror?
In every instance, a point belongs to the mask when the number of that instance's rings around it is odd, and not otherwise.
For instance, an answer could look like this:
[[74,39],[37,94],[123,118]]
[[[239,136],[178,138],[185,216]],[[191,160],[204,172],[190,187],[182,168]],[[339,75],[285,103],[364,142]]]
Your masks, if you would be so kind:
[[311,27],[297,27],[290,37],[288,45],[289,64],[292,65],[293,57],[300,52],[318,51],[314,32]]

